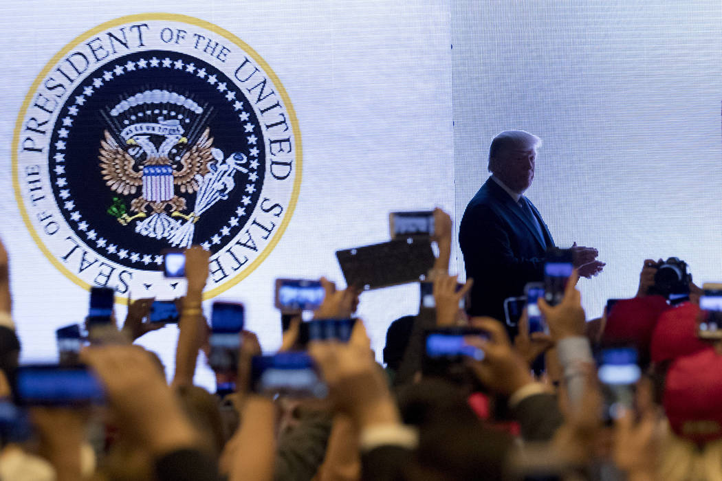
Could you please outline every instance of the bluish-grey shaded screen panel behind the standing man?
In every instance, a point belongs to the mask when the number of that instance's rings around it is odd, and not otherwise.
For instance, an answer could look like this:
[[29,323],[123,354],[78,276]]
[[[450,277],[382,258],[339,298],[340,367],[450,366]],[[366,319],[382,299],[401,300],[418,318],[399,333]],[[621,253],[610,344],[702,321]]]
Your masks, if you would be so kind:
[[453,0],[451,31],[457,218],[520,128],[544,140],[526,195],[557,245],[607,264],[580,283],[589,318],[646,258],[722,280],[718,0]]

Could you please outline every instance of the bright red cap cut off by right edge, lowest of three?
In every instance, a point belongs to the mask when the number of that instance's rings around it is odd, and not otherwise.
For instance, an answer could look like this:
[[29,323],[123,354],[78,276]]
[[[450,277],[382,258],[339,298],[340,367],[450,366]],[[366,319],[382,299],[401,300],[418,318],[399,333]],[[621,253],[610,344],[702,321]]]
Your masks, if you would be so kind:
[[663,404],[677,436],[696,443],[722,437],[721,372],[722,356],[710,347],[671,363]]

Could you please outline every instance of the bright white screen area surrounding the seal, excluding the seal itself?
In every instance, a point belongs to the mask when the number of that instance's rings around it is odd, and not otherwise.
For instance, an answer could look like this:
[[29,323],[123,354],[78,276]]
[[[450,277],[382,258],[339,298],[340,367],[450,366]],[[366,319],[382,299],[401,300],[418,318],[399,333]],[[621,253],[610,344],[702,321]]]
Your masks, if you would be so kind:
[[[5,0],[0,235],[25,359],[56,355],[54,330],[84,317],[87,292],[53,268],[19,218],[9,160],[17,112],[43,65],[74,37],[148,11],[199,17],[238,35],[277,73],[299,118],[303,185],[290,226],[265,262],[219,298],[245,303],[248,328],[264,349],[280,342],[274,278],[326,275],[343,286],[334,251],[388,240],[389,211],[453,211],[448,1],[157,0],[149,10],[145,0]],[[388,324],[416,312],[418,297],[417,285],[362,295],[360,317],[378,356]],[[176,337],[175,327],[165,327],[141,343],[171,369]],[[209,379],[202,369],[196,381]]]

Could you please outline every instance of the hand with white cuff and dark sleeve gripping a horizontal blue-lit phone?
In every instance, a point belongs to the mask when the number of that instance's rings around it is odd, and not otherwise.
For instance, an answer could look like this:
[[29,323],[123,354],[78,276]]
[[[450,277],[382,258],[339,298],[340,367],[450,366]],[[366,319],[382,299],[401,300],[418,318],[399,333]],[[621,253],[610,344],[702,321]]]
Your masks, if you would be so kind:
[[495,392],[510,396],[521,387],[534,382],[529,365],[509,343],[503,325],[491,317],[472,317],[471,326],[489,333],[490,339],[466,336],[464,342],[484,351],[484,359],[476,361],[467,358],[471,371],[484,386]]

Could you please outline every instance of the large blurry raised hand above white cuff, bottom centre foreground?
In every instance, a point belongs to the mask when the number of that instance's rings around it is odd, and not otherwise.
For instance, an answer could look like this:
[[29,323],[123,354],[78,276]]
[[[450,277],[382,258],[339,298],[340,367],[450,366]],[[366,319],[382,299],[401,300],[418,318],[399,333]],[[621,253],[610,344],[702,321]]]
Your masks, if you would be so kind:
[[336,341],[311,341],[308,353],[321,369],[336,409],[359,428],[401,423],[383,371],[369,350]]

